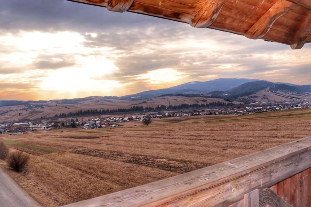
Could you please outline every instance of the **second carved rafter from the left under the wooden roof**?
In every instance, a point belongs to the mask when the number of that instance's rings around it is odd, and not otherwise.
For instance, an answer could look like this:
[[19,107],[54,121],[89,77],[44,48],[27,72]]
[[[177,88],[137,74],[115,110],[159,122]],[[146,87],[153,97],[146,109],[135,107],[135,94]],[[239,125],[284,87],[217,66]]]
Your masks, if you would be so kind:
[[198,28],[209,27],[216,20],[226,1],[227,0],[206,0],[189,24]]

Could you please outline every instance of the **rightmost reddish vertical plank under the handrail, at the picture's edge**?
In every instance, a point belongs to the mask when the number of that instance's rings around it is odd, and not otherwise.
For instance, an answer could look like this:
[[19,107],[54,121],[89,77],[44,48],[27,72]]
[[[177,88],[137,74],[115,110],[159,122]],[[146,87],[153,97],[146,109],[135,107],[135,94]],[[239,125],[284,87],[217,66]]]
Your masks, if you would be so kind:
[[301,172],[302,175],[302,206],[311,206],[311,168]]

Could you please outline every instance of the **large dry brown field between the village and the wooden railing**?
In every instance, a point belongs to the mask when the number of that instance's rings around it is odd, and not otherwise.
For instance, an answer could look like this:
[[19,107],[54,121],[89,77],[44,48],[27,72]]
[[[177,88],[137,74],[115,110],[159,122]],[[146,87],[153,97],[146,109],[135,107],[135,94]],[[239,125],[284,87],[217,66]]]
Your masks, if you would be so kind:
[[311,136],[310,126],[311,109],[295,109],[0,135],[11,150],[30,154],[24,173],[0,166],[44,206],[60,206]]

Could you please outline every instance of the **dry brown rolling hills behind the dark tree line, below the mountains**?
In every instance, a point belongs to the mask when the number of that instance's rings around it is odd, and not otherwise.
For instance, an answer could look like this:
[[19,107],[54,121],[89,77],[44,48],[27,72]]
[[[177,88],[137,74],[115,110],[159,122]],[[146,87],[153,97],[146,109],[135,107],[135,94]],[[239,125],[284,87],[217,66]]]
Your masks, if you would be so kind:
[[[57,104],[55,102],[49,103],[49,106],[44,108],[32,108],[32,109],[24,109],[25,105],[20,106],[3,106],[0,107],[0,111],[9,111],[7,113],[0,114],[0,123],[1,122],[18,122],[23,119],[37,119],[40,117],[51,118],[56,114],[60,113],[69,113],[69,112],[77,112],[79,110],[87,110],[87,109],[118,109],[118,108],[131,108],[133,106],[142,106],[155,108],[157,105],[180,105],[180,104],[206,104],[210,102],[226,102],[223,99],[215,99],[215,98],[202,98],[202,97],[194,97],[187,98],[183,96],[167,96],[167,97],[158,97],[152,99],[144,99],[138,101],[124,101],[118,99],[103,99],[101,97],[95,97],[92,100],[80,102],[78,104]],[[143,103],[144,102],[144,103]],[[239,102],[237,102],[239,103]],[[24,110],[23,110],[24,109]],[[19,116],[19,113],[22,115]]]

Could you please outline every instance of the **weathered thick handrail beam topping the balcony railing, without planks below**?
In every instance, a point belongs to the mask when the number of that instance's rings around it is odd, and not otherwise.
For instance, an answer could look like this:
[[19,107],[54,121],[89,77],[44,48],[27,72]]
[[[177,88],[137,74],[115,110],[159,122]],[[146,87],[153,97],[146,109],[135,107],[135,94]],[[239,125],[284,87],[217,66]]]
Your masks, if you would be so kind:
[[311,137],[66,207],[228,206],[311,167]]

